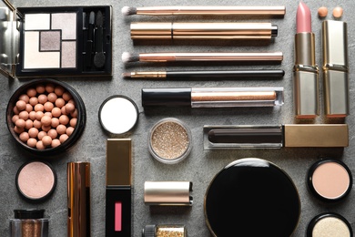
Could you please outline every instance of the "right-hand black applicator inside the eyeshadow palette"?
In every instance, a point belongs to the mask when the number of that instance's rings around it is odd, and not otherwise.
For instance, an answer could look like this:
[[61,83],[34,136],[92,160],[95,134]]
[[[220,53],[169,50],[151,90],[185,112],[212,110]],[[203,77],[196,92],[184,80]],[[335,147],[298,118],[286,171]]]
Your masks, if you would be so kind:
[[95,31],[95,56],[94,56],[94,65],[96,68],[102,68],[105,66],[105,53],[103,48],[104,41],[104,16],[101,11],[98,11],[96,14],[96,31]]

